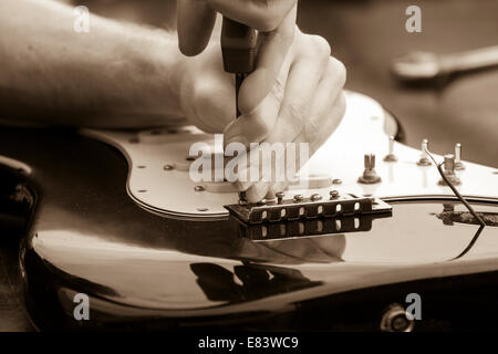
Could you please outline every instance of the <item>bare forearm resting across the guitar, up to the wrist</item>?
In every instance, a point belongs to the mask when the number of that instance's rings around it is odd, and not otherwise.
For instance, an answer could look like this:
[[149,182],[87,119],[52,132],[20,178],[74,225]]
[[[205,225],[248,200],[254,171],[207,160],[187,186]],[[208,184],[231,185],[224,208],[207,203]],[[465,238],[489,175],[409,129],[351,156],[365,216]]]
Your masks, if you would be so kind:
[[0,1],[0,111],[9,119],[146,126],[181,115],[174,34],[96,15],[74,31],[73,9]]

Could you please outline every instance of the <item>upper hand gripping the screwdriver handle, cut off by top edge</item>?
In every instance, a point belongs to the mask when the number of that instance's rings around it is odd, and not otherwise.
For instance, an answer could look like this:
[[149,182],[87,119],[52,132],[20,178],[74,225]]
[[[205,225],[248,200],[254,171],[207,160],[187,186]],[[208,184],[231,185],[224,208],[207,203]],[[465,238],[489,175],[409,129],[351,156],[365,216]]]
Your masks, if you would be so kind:
[[[259,31],[255,71],[240,87],[239,110],[249,113],[277,82],[295,28],[297,0],[178,0],[178,43],[188,56],[201,53],[211,38],[216,11]],[[235,100],[235,98],[234,98]]]

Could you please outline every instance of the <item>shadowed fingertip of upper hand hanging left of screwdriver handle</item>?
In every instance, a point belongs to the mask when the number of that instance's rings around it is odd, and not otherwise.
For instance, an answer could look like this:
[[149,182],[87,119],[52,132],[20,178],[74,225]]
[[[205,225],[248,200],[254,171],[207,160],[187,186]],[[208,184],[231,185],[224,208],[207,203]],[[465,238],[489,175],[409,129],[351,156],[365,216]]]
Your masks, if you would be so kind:
[[177,19],[181,53],[194,56],[203,52],[211,38],[216,11],[204,1],[178,0]]

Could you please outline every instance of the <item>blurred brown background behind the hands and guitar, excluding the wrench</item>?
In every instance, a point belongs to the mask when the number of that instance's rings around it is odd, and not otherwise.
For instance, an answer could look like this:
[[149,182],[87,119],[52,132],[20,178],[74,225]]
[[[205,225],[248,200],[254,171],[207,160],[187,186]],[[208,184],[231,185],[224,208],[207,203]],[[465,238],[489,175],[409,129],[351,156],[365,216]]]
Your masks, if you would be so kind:
[[[91,12],[176,29],[176,0],[86,0]],[[422,32],[405,30],[408,6],[422,9]],[[413,51],[439,54],[498,44],[498,0],[302,0],[298,24],[329,40],[347,69],[346,88],[365,93],[402,123],[405,143],[423,138],[438,154],[463,144],[463,158],[498,168],[498,69],[429,85],[400,84],[394,59]]]

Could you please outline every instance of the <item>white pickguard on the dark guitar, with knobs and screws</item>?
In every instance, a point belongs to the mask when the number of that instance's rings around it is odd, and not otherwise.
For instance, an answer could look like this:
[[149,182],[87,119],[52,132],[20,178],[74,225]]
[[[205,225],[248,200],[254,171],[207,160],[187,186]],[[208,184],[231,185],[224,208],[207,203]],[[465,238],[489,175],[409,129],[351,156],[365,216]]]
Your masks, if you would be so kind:
[[[347,93],[344,118],[329,140],[309,162],[310,175],[330,176],[319,179],[318,189],[289,190],[291,195],[309,196],[319,192],[325,197],[331,189],[341,194],[372,195],[387,200],[430,197],[453,198],[449,187],[438,185],[440,176],[434,165],[421,167],[416,163],[421,150],[395,143],[396,163],[385,163],[388,137],[384,132],[386,116],[374,100],[357,93]],[[170,132],[168,128],[138,133],[112,131],[83,131],[84,135],[117,147],[127,158],[129,196],[145,209],[179,218],[203,219],[228,216],[225,205],[236,204],[238,195],[228,183],[194,183],[189,178],[186,160],[190,145],[196,142],[214,143],[214,136],[195,127]],[[453,152],[448,152],[453,153]],[[357,177],[364,169],[364,154],[376,155],[375,169],[382,183],[363,185]],[[436,155],[435,155],[436,156]],[[440,156],[436,156],[438,162]],[[498,200],[496,169],[464,162],[466,169],[458,171],[458,190],[468,198]],[[165,170],[165,165],[173,165]],[[304,178],[304,177],[303,177]],[[332,185],[339,178],[341,185]],[[205,190],[196,191],[201,185]]]

